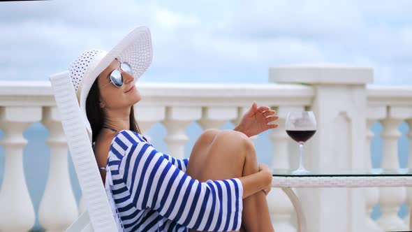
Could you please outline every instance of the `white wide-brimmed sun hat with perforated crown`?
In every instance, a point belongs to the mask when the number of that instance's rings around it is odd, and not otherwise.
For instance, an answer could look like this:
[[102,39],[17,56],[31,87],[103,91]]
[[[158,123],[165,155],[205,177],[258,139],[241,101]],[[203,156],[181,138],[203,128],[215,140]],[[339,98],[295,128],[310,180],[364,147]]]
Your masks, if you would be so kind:
[[91,126],[86,114],[86,99],[91,85],[98,75],[107,68],[114,59],[127,61],[133,69],[133,76],[138,79],[152,63],[152,39],[147,27],[133,29],[110,52],[88,50],[77,57],[68,71],[78,96],[80,112],[91,139]]

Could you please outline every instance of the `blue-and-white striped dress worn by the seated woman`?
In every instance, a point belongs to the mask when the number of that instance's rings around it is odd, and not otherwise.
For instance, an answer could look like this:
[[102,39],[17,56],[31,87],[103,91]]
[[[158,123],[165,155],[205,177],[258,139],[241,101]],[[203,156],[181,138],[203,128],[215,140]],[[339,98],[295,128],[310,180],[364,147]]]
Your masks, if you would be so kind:
[[105,188],[119,231],[237,231],[242,182],[199,182],[188,159],[154,149],[145,137],[119,131],[110,145]]

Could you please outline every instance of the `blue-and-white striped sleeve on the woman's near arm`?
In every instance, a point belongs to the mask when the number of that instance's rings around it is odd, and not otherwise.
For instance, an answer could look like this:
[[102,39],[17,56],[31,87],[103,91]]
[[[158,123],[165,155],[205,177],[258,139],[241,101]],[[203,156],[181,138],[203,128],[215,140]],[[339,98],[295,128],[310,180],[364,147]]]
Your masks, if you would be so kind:
[[243,187],[237,178],[193,180],[142,140],[128,147],[119,171],[133,205],[139,210],[151,208],[177,224],[198,231],[240,229]]

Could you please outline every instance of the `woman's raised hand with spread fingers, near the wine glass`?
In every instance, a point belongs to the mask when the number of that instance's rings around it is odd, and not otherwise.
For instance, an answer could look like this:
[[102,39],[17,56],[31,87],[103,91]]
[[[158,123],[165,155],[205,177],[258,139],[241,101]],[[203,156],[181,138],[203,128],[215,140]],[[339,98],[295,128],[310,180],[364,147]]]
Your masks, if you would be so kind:
[[276,112],[271,110],[267,106],[260,106],[256,101],[253,101],[253,105],[245,113],[240,120],[240,123],[235,127],[235,131],[240,131],[248,137],[256,136],[268,129],[274,129],[279,126],[278,124],[268,124],[274,122],[279,117],[274,115]]

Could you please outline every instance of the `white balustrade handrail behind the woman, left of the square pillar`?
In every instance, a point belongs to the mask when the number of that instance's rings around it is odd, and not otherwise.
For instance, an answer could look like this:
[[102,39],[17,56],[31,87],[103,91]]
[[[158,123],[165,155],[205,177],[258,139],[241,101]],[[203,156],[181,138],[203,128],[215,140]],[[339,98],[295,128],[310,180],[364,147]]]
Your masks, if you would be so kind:
[[[142,106],[309,105],[314,89],[306,85],[199,84],[138,82]],[[220,101],[216,101],[220,99]],[[49,82],[0,82],[0,106],[54,106]]]

